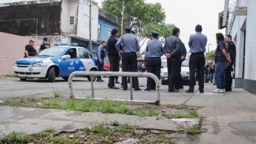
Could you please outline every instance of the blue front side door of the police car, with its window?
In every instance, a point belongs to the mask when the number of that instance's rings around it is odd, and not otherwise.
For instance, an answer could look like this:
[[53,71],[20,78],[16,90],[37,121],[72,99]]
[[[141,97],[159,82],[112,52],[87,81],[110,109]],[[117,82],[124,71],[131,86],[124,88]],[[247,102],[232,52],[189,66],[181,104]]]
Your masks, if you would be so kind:
[[77,49],[69,49],[65,55],[70,55],[70,58],[61,60],[61,75],[69,76],[74,71],[79,71],[79,58]]

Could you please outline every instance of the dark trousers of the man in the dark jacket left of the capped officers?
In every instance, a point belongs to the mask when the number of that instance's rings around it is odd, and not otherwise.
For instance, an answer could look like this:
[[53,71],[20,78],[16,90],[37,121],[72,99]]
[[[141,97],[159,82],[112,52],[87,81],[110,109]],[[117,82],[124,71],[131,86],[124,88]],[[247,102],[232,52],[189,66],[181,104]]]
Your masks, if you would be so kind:
[[[111,72],[119,72],[120,67],[120,58],[119,56],[109,56],[109,63],[110,63],[110,71]],[[109,87],[115,86],[115,78],[116,77],[109,77]]]

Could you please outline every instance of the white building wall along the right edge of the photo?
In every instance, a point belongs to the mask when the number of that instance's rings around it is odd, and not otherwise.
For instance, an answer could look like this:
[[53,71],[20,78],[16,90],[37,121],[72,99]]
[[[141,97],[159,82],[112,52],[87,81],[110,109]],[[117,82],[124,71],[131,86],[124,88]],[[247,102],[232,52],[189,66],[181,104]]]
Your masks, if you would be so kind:
[[246,54],[244,79],[256,80],[256,1],[237,0],[237,6],[247,6],[247,16],[236,16],[230,34],[237,45],[236,78],[243,77],[244,30],[246,30]]

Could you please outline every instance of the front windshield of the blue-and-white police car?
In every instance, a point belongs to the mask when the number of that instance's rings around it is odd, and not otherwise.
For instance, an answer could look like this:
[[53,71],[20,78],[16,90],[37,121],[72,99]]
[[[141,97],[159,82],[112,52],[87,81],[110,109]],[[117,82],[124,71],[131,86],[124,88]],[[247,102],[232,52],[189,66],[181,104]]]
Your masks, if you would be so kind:
[[51,47],[49,49],[45,49],[41,51],[38,56],[52,56],[52,57],[58,57],[63,54],[65,51],[65,47]]

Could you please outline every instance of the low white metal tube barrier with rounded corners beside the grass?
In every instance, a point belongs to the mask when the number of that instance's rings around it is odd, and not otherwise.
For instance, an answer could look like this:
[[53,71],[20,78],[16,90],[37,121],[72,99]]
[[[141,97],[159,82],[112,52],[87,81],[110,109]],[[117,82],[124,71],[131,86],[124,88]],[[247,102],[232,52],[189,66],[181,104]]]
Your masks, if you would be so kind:
[[[92,97],[93,99],[100,99],[100,98],[95,98],[94,95],[94,86],[93,86],[93,77],[94,76],[106,76],[106,77],[130,77],[130,92],[131,92],[131,99],[130,100],[125,100],[125,99],[115,99],[117,101],[125,101],[125,102],[146,102],[146,103],[154,103],[154,104],[160,104],[160,81],[157,78],[156,75],[148,72],[93,72],[93,71],[88,71],[88,72],[72,72],[70,74],[70,77],[68,79],[68,84],[70,86],[70,97],[74,97],[74,92],[73,92],[73,83],[72,79],[76,76],[88,76],[91,79],[91,87],[92,87]],[[134,100],[134,94],[133,94],[133,88],[132,88],[132,77],[150,77],[154,79],[156,82],[156,93],[157,93],[157,99],[155,102],[152,101],[141,101],[141,100]],[[75,97],[76,99],[85,99],[86,97]]]

